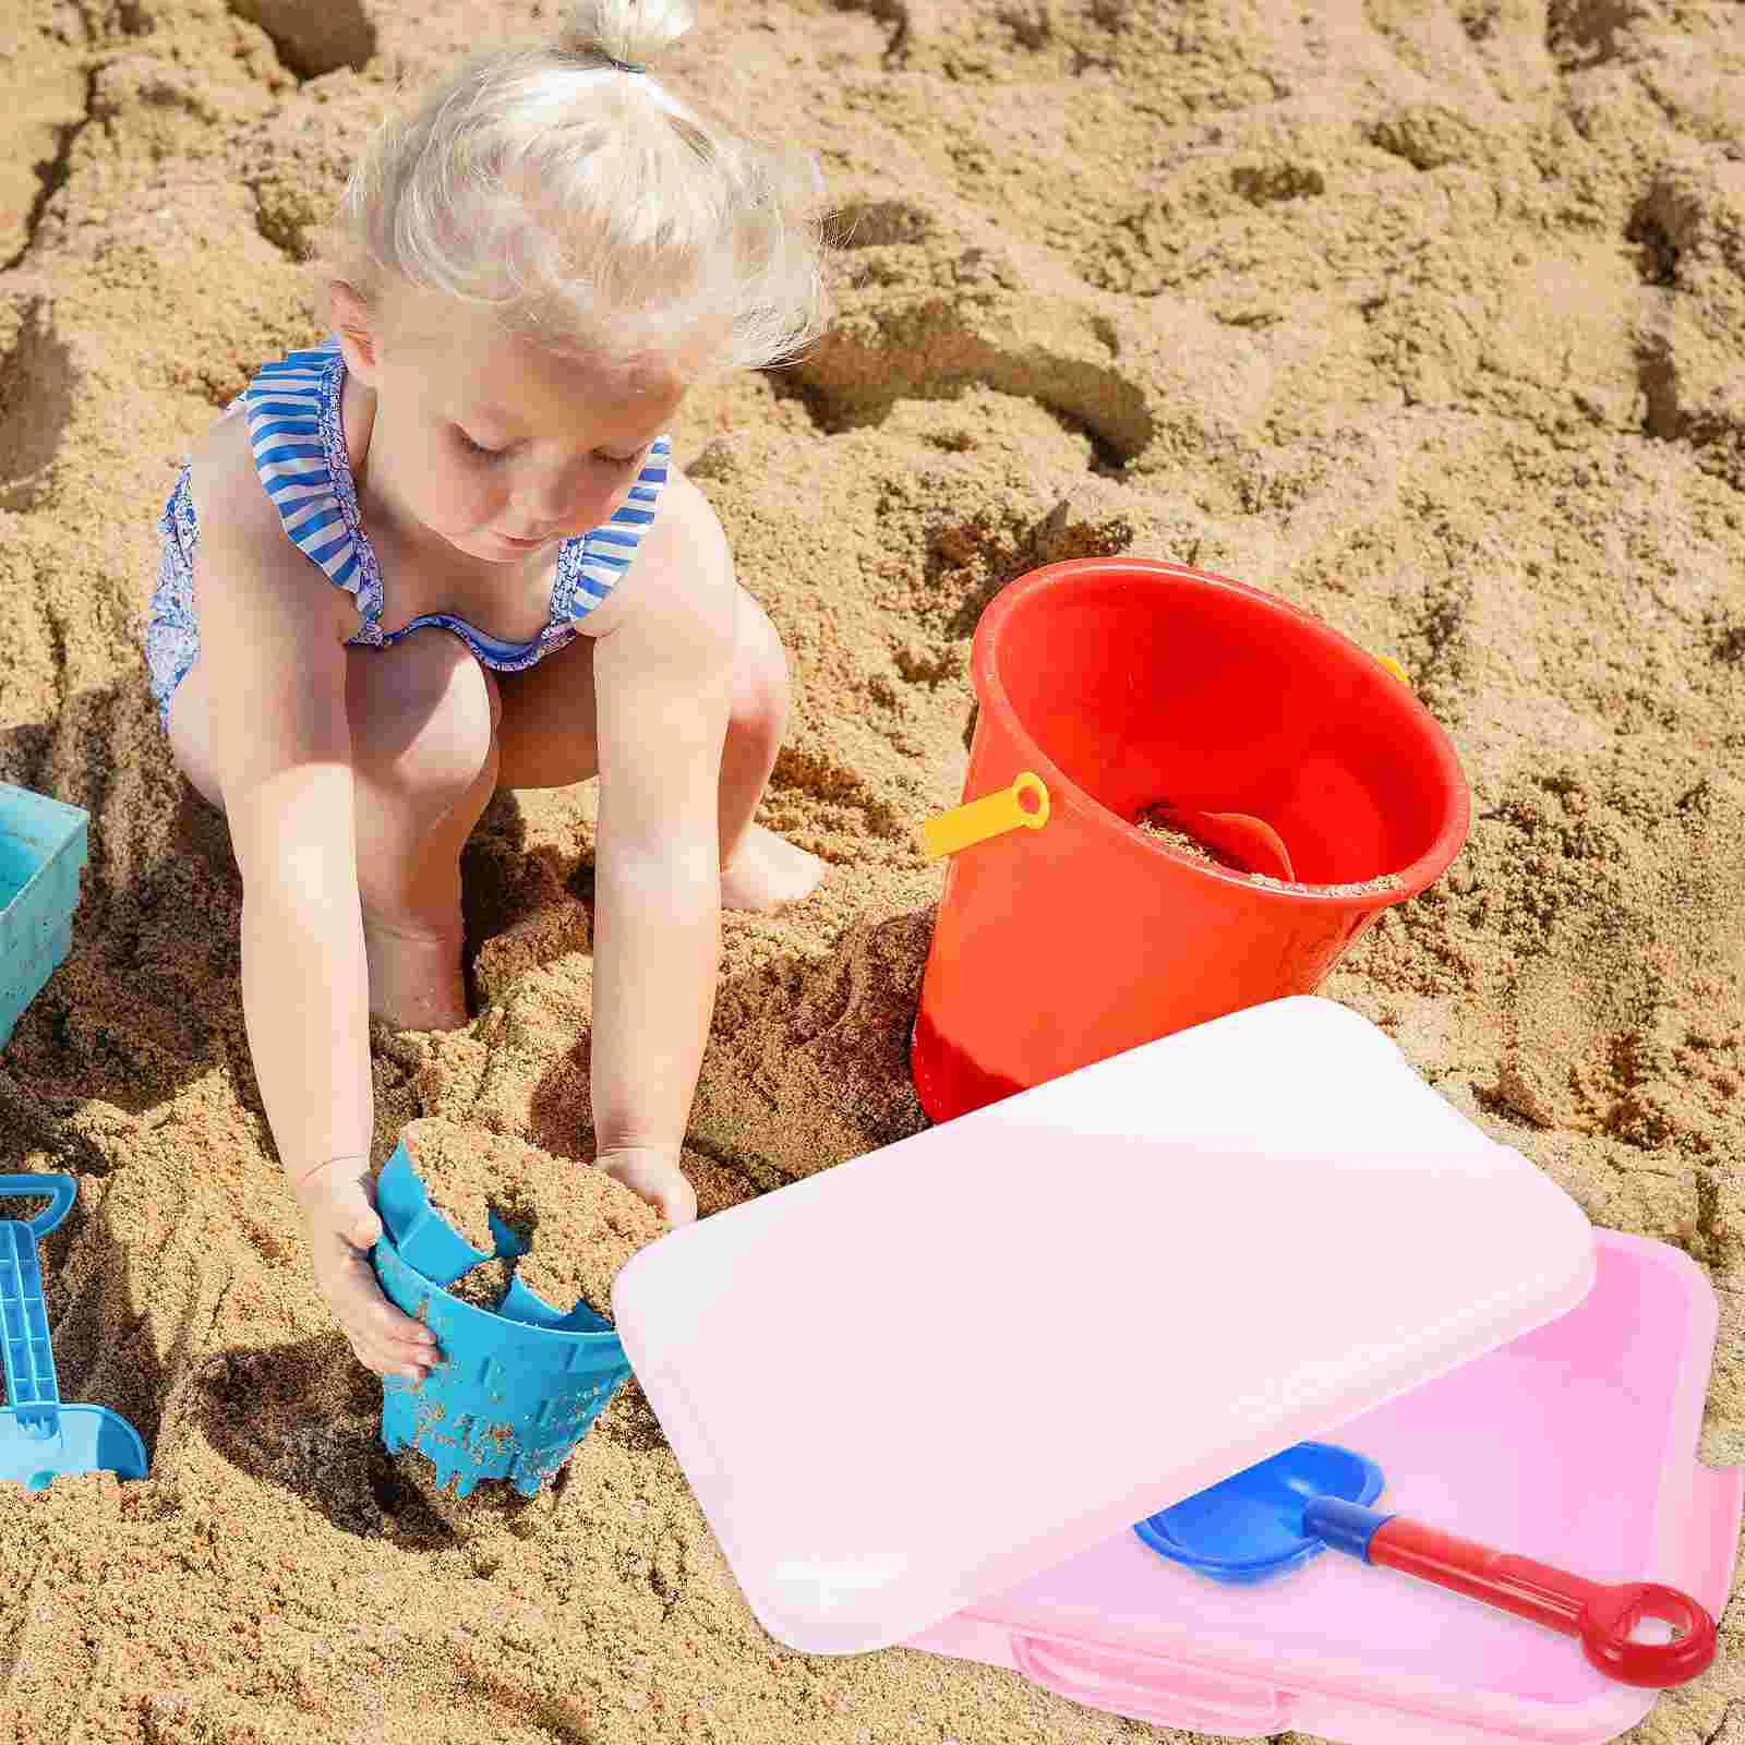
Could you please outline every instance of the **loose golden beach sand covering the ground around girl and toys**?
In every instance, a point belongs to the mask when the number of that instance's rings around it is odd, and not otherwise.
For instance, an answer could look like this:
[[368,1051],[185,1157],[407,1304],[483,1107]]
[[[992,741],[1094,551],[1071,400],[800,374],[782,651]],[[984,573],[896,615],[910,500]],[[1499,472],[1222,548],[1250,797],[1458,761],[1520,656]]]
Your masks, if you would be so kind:
[[[134,632],[174,464],[316,333],[293,257],[391,80],[532,7],[248,10],[0,7],[0,777],[92,811],[73,958],[0,1057],[0,1167],[77,1171],[63,1391],[154,1473],[0,1494],[0,1736],[1150,1736],[968,1665],[775,1647],[633,1389],[548,1502],[464,1534],[372,1447],[248,1064],[236,869]],[[914,827],[961,794],[991,595],[1061,557],[1199,564],[1396,656],[1447,724],[1469,846],[1326,991],[1707,1270],[1701,1450],[1745,1459],[1745,9],[710,0],[677,59],[817,141],[853,222],[832,339],[675,433],[792,656],[764,822],[831,864],[726,925],[705,1213],[921,1126],[944,874]],[[379,1038],[377,1157],[419,1115],[592,1155],[593,824],[592,789],[487,815],[487,1003]],[[1642,1736],[1740,1745],[1738,1602],[1724,1630]]]

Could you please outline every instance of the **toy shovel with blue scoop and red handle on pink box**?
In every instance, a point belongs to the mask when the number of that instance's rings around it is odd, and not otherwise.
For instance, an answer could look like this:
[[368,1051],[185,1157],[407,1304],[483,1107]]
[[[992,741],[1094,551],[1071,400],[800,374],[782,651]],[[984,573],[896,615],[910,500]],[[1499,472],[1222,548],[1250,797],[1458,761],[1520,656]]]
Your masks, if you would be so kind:
[[[1382,1469],[1326,1441],[1302,1441],[1227,1478],[1134,1532],[1157,1553],[1213,1581],[1270,1581],[1324,1550],[1398,1569],[1483,1605],[1576,1637],[1590,1665],[1619,1684],[1689,1684],[1715,1658],[1715,1621],[1687,1593],[1653,1581],[1602,1586],[1550,1564],[1455,1539],[1370,1504]],[[1637,1640],[1644,1619],[1670,1642]]]

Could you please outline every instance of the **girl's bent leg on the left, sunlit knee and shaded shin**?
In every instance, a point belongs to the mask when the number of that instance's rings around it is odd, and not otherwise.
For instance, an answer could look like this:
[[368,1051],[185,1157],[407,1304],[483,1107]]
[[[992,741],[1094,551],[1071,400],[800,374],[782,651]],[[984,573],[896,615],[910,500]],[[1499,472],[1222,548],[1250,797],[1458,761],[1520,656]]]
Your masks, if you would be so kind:
[[[445,630],[346,660],[370,1010],[407,1030],[454,1030],[466,1023],[461,850],[497,785],[497,688]],[[199,663],[176,691],[169,738],[222,808]]]

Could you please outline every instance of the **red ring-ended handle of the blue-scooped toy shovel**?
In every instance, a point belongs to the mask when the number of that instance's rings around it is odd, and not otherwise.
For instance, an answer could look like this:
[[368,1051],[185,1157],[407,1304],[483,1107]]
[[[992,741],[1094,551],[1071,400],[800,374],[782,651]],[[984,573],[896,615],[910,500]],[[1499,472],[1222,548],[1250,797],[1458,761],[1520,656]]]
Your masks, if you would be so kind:
[[[1715,1658],[1714,1618],[1677,1588],[1653,1581],[1607,1588],[1399,1515],[1375,1530],[1368,1558],[1579,1637],[1588,1659],[1619,1684],[1651,1691],[1687,1684]],[[1673,1640],[1633,1642],[1632,1632],[1644,1618],[1670,1625]]]

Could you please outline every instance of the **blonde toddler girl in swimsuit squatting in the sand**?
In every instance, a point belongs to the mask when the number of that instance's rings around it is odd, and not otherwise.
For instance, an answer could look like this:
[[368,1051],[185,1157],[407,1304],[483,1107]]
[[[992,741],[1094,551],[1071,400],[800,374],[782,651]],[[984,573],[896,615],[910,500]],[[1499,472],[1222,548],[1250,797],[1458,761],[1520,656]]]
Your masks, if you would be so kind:
[[379,133],[323,277],[333,337],[267,365],[164,511],[147,658],[243,872],[243,1007],[316,1281],[379,1373],[368,1019],[466,1021],[461,850],[494,789],[600,777],[599,1162],[675,1222],[721,906],[818,879],[754,825],[787,705],[667,426],[824,316],[810,159],[649,70],[686,0],[588,0]]

